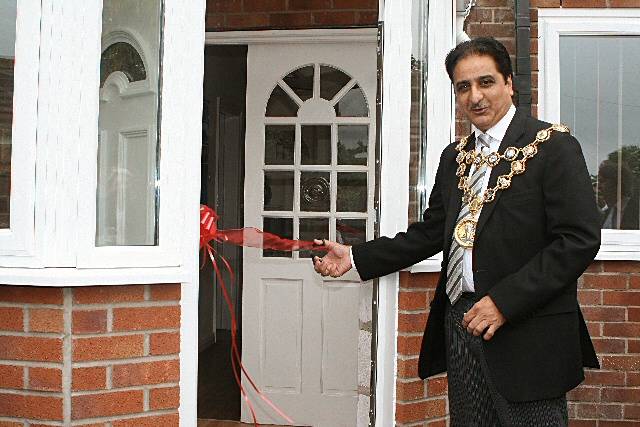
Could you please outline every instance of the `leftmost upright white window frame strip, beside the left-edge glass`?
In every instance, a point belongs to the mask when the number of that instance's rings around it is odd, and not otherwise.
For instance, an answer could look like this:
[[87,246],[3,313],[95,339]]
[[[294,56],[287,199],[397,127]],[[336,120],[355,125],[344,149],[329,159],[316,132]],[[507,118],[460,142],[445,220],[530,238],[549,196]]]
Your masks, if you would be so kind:
[[35,259],[35,163],[38,115],[40,1],[17,2],[11,135],[9,228],[0,229],[0,259],[38,265]]

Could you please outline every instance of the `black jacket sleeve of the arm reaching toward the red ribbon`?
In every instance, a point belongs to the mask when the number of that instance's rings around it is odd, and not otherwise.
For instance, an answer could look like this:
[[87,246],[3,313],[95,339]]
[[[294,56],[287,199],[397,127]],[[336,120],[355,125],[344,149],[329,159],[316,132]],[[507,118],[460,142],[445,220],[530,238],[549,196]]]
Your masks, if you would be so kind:
[[451,156],[450,152],[453,152],[451,146],[440,156],[429,207],[423,213],[422,221],[411,224],[407,231],[393,238],[380,237],[353,246],[355,267],[362,280],[385,276],[442,251],[445,224],[443,175],[446,168],[443,159]]

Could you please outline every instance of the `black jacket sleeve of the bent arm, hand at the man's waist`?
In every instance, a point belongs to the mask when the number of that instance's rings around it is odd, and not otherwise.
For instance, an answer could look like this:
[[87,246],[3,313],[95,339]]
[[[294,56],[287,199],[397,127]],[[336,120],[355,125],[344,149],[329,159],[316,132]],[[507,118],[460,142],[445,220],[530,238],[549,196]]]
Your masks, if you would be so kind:
[[550,243],[489,290],[508,321],[524,319],[567,287],[575,288],[600,247],[598,210],[578,141],[557,134],[545,144],[541,179]]

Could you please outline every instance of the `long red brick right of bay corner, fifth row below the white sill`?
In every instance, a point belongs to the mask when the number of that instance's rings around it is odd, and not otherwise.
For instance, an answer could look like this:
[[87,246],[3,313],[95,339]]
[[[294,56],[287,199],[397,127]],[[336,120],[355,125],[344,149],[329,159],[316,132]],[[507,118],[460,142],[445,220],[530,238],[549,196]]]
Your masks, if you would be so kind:
[[71,419],[108,417],[142,412],[143,391],[117,391],[86,394],[71,398]]

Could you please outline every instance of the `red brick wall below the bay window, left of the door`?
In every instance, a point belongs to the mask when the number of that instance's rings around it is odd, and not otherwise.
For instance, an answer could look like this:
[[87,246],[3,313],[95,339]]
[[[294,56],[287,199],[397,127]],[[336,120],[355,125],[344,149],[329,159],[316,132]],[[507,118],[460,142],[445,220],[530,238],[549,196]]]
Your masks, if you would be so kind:
[[177,426],[180,285],[0,286],[0,425]]

